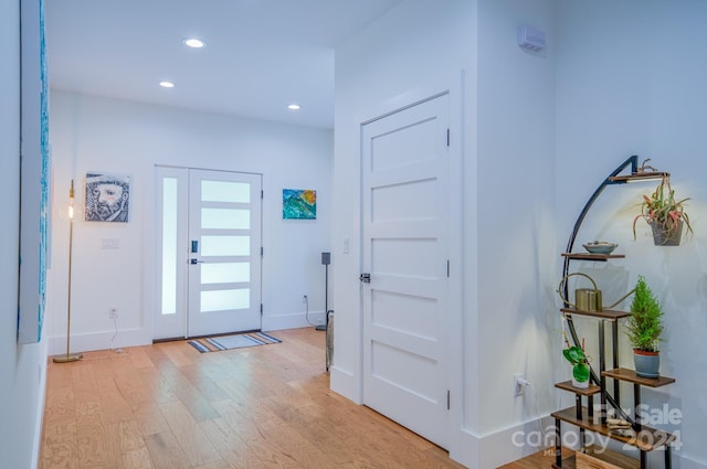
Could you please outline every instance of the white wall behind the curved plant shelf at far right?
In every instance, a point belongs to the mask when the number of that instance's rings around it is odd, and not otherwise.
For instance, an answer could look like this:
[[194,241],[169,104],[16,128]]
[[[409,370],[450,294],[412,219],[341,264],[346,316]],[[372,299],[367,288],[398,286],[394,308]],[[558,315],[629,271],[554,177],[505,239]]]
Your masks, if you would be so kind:
[[[672,173],[678,196],[690,196],[695,236],[680,247],[655,247],[645,224],[633,241],[632,220],[643,192],[654,183],[609,188],[578,242],[620,244],[626,255],[604,266],[581,266],[619,298],[644,275],[666,311],[661,372],[676,383],[644,392],[661,408],[679,409],[682,468],[707,467],[707,358],[699,353],[707,330],[707,3],[680,0],[562,1],[558,10],[557,199],[560,237],[567,238],[584,201],[603,178],[631,154]],[[580,246],[581,249],[581,246]],[[593,333],[593,324],[587,324]],[[584,329],[587,330],[587,329]],[[621,363],[632,366],[621,337]],[[631,390],[626,390],[630,403]],[[624,397],[626,398],[626,397]],[[662,454],[654,455],[658,460]],[[656,461],[656,467],[661,467]]]

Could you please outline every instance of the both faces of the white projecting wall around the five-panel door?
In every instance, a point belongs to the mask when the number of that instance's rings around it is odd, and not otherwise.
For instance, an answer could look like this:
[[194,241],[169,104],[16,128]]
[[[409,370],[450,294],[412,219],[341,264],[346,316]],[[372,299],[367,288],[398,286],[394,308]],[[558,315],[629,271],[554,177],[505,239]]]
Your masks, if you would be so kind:
[[[419,89],[465,71],[464,351],[458,420],[451,456],[496,467],[532,448],[510,430],[553,404],[547,348],[555,246],[553,58],[528,54],[516,29],[530,24],[552,41],[549,1],[407,1],[337,50],[333,246],[335,366],[331,386],[361,396],[358,125],[376,109],[408,104]],[[449,83],[449,82],[447,82]],[[547,223],[546,223],[547,222]],[[345,238],[354,249],[344,254]],[[550,262],[541,262],[544,256]],[[483,358],[482,358],[483,356]],[[485,359],[485,358],[492,358]],[[513,395],[513,375],[534,383]],[[453,394],[454,395],[454,394]]]

